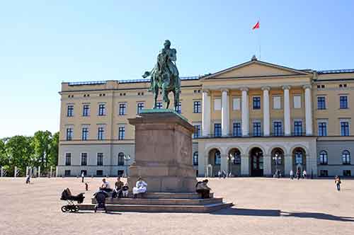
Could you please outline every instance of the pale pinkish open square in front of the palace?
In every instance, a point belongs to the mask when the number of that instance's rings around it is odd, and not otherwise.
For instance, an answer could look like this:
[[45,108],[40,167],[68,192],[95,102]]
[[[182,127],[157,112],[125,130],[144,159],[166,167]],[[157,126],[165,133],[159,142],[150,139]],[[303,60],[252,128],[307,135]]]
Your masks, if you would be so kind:
[[[115,178],[108,178],[113,185]],[[0,178],[0,234],[353,234],[354,180],[210,179],[234,207],[212,214],[62,213],[62,190],[84,192],[80,178]],[[90,190],[101,178],[86,178]]]

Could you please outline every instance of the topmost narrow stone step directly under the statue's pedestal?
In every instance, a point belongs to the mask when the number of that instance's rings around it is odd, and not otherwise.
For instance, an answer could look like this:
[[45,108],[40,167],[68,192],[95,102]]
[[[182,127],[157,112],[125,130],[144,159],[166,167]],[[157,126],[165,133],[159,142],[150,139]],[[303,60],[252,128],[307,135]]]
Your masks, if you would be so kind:
[[[109,197],[112,193],[108,193]],[[209,194],[214,197],[214,193]],[[133,194],[128,193],[128,197],[132,198]],[[159,198],[159,199],[201,199],[198,193],[142,193],[137,196],[138,198]]]

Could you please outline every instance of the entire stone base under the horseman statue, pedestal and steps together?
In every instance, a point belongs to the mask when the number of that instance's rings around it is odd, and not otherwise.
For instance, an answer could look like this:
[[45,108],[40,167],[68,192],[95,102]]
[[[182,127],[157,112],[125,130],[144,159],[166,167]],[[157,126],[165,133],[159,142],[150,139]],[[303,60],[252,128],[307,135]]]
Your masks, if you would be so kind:
[[[135,126],[135,162],[129,168],[130,192],[137,179],[147,183],[147,192],[138,198],[110,198],[108,211],[117,212],[213,212],[232,203],[222,198],[202,199],[195,193],[197,183],[192,162],[193,125],[173,110],[142,110],[129,119]],[[93,210],[80,205],[80,210]]]

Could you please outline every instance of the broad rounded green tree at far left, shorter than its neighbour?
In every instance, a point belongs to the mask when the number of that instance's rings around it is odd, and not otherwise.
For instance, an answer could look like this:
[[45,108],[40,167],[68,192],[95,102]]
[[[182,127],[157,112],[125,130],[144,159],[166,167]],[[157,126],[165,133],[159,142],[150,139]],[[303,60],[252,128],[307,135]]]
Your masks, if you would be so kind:
[[31,143],[32,137],[22,135],[16,135],[6,141],[6,158],[10,171],[13,172],[13,168],[17,166],[24,174],[26,166],[32,165],[34,151]]

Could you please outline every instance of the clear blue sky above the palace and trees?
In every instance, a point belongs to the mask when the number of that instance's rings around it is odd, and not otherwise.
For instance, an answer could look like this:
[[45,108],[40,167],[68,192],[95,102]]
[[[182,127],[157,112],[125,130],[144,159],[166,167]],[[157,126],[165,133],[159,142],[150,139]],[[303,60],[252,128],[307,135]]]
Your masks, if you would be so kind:
[[139,79],[165,39],[182,76],[258,56],[255,33],[266,62],[354,67],[354,1],[122,2],[1,2],[0,137],[59,130],[62,81]]

